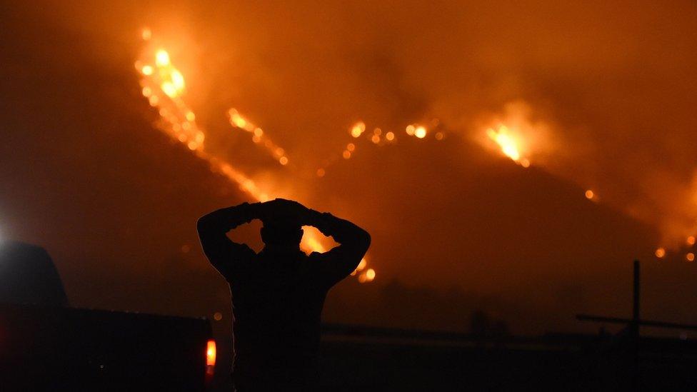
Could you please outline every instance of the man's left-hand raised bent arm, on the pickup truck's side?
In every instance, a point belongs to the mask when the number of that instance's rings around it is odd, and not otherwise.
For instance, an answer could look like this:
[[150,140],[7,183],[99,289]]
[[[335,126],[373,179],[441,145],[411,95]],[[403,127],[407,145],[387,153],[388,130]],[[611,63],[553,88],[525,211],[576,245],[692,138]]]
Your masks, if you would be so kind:
[[244,243],[230,241],[226,233],[259,217],[260,211],[261,203],[241,203],[239,206],[213,211],[199,218],[196,223],[206,257],[228,281],[256,253]]

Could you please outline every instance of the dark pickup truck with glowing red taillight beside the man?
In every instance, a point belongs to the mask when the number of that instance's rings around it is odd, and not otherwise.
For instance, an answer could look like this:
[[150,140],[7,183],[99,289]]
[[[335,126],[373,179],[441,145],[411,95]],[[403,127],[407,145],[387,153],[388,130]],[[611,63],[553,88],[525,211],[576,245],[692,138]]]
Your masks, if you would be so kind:
[[0,243],[1,391],[205,391],[205,318],[69,307],[43,248]]

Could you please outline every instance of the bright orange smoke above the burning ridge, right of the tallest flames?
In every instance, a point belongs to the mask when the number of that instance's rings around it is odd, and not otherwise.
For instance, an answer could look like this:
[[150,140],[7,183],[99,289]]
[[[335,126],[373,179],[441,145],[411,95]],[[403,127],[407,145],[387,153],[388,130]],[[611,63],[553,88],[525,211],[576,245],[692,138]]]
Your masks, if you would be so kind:
[[[670,246],[697,217],[695,13],[688,2],[171,11],[188,16],[191,31],[177,34],[200,48],[182,54],[200,68],[191,91],[206,91],[192,98],[225,137],[221,109],[239,107],[311,174],[351,141],[357,120],[404,137],[407,124],[438,119],[466,140],[481,138],[492,119],[520,124],[533,164],[593,189],[602,203],[658,228],[658,242]],[[256,170],[265,163],[257,153],[240,161]]]

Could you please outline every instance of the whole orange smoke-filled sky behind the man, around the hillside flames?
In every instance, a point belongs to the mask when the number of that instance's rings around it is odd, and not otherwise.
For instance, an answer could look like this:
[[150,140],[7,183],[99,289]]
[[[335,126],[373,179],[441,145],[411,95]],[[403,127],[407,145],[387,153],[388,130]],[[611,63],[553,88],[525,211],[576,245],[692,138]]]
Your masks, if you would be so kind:
[[[574,328],[576,311],[628,311],[641,258],[646,313],[695,321],[681,245],[697,218],[691,2],[3,9],[1,232],[46,246],[81,306],[211,311],[172,299],[201,296],[191,271],[224,290],[194,223],[249,200],[154,127],[133,67],[148,26],[186,77],[206,149],[368,229],[373,284],[509,298],[543,315],[521,326],[538,332]],[[263,126],[289,166],[231,129],[230,107]],[[544,129],[528,169],[481,143],[511,107]],[[403,132],[433,119],[443,141]],[[356,121],[398,139],[353,140]],[[351,141],[350,160],[314,176]],[[259,246],[253,229],[240,238]],[[670,246],[666,259],[657,246]]]

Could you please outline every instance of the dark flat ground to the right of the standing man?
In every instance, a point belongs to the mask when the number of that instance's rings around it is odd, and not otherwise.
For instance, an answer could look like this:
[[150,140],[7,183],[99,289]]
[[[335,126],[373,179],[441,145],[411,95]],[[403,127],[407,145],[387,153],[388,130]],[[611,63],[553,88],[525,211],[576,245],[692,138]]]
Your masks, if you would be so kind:
[[[636,351],[636,352],[635,352]],[[326,391],[694,391],[697,344],[665,338],[474,338],[328,326]]]

